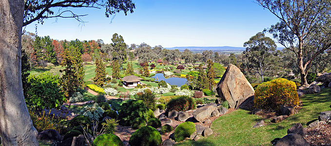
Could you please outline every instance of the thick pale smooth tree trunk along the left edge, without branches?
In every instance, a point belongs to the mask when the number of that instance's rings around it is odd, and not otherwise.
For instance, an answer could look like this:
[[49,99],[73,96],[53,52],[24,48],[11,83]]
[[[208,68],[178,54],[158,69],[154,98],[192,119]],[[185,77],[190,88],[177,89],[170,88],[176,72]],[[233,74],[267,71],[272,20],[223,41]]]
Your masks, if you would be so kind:
[[38,146],[21,80],[23,0],[0,0],[0,136],[2,146]]

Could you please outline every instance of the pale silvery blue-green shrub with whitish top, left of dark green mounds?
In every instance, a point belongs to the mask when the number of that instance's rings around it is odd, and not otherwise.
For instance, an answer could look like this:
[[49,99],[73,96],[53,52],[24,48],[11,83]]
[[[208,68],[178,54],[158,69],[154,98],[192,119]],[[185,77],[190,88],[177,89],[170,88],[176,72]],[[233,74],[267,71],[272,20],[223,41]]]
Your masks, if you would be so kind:
[[97,121],[102,116],[104,110],[98,106],[97,103],[85,106],[80,110],[80,114],[89,117],[91,120]]

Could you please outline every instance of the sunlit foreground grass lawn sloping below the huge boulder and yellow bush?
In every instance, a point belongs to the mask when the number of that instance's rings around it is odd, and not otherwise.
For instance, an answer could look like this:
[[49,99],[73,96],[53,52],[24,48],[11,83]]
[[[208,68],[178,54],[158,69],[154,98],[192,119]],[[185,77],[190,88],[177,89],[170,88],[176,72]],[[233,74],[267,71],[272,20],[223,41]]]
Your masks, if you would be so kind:
[[197,141],[188,140],[176,146],[271,146],[273,139],[285,136],[287,129],[294,124],[301,123],[307,127],[307,123],[317,119],[321,111],[331,110],[331,89],[322,89],[318,94],[306,94],[300,100],[302,109],[280,123],[264,119],[267,126],[253,128],[262,118],[249,114],[247,110],[235,110],[213,122],[213,135]]

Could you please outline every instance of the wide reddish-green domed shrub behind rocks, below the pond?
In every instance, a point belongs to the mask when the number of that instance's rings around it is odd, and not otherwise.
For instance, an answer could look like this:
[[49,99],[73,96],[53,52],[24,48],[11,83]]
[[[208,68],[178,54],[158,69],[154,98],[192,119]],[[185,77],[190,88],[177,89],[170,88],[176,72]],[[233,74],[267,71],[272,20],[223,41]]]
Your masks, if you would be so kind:
[[178,96],[172,98],[167,104],[167,112],[171,110],[187,111],[195,109],[195,100],[189,96]]

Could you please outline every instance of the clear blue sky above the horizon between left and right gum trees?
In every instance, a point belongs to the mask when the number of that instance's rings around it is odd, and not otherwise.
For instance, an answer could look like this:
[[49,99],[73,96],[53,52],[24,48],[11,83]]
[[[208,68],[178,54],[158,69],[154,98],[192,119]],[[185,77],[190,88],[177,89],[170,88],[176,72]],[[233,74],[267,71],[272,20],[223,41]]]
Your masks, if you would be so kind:
[[[256,33],[278,22],[254,0],[133,0],[135,12],[119,13],[112,20],[104,9],[77,8],[88,14],[82,26],[73,18],[55,18],[38,24],[39,36],[53,39],[97,40],[111,43],[114,33],[127,44],[145,42],[151,46],[242,47]],[[35,32],[34,22],[25,30]],[[24,28],[23,28],[24,29]],[[271,35],[268,35],[271,36]]]

